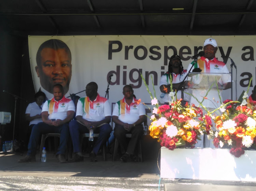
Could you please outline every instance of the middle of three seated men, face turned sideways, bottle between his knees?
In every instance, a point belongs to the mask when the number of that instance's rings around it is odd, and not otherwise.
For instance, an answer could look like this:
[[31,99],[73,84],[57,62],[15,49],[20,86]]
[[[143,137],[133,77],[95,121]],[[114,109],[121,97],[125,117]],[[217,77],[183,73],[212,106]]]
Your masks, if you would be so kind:
[[97,93],[98,85],[90,82],[86,85],[86,96],[77,102],[76,120],[69,123],[70,135],[73,143],[74,156],[70,162],[83,161],[84,158],[80,151],[79,138],[81,133],[89,133],[90,129],[94,133],[99,133],[93,150],[90,153],[91,162],[96,162],[96,155],[102,143],[110,136],[111,108],[108,99],[100,97]]

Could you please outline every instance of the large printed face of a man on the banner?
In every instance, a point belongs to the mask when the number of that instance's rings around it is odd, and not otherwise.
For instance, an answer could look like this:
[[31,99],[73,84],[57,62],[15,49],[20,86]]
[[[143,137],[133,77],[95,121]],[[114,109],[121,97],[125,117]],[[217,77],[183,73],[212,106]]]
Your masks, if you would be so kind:
[[72,75],[71,52],[65,42],[58,39],[45,41],[37,51],[36,60],[35,71],[42,88],[53,93],[53,85],[61,84],[65,95]]

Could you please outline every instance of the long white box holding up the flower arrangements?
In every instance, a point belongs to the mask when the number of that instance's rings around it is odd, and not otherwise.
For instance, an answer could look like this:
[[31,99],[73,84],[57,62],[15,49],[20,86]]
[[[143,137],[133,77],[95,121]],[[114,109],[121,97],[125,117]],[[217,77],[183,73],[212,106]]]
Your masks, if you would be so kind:
[[256,151],[237,158],[228,149],[161,147],[161,178],[256,181]]

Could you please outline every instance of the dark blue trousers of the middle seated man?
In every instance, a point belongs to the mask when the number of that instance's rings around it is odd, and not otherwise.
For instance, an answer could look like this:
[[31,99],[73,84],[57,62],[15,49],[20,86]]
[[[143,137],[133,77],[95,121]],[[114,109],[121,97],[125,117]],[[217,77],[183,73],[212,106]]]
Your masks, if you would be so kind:
[[[81,133],[89,133],[89,130],[87,129],[86,126],[84,126],[81,123],[74,120],[74,121],[69,122],[69,131],[70,131],[70,135],[71,135],[71,139],[72,139],[72,143],[73,143],[74,153],[81,152],[81,150],[80,150],[81,148],[80,148],[80,144],[79,144],[80,134]],[[98,154],[98,151],[99,151],[102,143],[105,142],[109,138],[110,132],[111,132],[110,124],[104,124],[100,127],[97,127],[96,129],[94,129],[94,133],[99,133],[99,137],[93,147],[93,152],[96,155]]]

